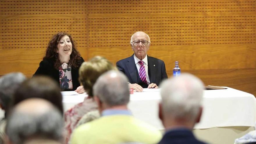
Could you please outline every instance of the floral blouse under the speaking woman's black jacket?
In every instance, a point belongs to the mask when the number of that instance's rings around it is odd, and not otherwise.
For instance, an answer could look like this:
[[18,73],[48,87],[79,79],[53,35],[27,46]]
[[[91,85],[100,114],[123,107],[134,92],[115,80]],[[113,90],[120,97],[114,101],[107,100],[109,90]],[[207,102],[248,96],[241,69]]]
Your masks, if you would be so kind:
[[63,63],[59,67],[60,75],[60,88],[61,90],[71,90],[73,89],[71,66],[67,63]]

